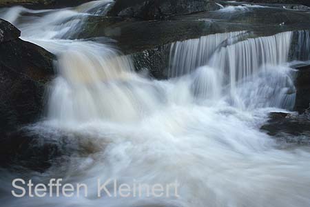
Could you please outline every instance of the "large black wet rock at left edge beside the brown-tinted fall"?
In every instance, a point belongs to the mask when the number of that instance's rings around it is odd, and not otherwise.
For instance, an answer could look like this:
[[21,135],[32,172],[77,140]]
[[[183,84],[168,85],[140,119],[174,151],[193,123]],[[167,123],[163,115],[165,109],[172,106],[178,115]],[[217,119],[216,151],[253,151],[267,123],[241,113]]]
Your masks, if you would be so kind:
[[[1,21],[0,30],[12,25]],[[3,26],[6,25],[6,26]],[[16,28],[15,31],[16,32]],[[0,43],[0,132],[5,133],[39,119],[46,83],[54,75],[54,56],[43,48],[9,35]],[[13,39],[12,37],[15,37]],[[4,37],[6,38],[6,36]]]

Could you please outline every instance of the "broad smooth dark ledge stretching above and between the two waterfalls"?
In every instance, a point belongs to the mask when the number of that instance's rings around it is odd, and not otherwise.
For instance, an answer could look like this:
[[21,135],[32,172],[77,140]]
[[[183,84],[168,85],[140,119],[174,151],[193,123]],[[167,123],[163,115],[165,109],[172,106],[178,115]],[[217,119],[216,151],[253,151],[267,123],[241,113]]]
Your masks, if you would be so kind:
[[93,17],[87,21],[87,26],[74,38],[109,37],[117,41],[116,45],[121,48],[125,55],[157,48],[175,41],[195,39],[207,34],[245,28],[240,24],[197,21],[197,19],[173,21],[126,19],[124,21],[116,18]]

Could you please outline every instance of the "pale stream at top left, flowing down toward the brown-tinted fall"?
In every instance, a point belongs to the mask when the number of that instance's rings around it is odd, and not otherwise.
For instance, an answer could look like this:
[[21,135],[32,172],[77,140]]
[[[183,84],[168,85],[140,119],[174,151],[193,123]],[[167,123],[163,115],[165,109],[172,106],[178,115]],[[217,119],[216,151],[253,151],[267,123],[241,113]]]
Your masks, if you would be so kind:
[[[16,6],[10,10],[0,8],[0,16],[23,31],[22,39],[41,45],[47,39],[74,39],[88,17],[104,15],[112,2],[90,1],[76,8],[59,10],[30,10]],[[55,52],[53,48],[47,49]]]

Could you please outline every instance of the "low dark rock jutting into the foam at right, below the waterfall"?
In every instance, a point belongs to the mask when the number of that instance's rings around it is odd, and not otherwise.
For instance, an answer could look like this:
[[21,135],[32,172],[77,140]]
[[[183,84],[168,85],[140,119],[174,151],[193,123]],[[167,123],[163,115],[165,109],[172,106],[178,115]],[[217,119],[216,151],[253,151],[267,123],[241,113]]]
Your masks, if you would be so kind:
[[310,116],[271,112],[261,130],[289,144],[310,145]]

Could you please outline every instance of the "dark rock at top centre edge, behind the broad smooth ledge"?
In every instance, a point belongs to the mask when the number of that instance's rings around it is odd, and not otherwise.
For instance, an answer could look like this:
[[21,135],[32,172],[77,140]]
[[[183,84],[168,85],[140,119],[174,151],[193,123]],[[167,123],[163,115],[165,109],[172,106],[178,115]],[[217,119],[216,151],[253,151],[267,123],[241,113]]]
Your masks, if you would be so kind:
[[209,0],[116,0],[108,14],[139,19],[165,19],[176,14],[191,14],[219,8],[214,1]]

